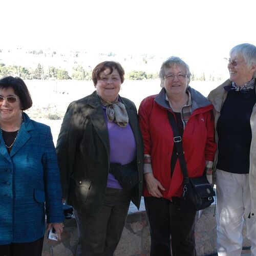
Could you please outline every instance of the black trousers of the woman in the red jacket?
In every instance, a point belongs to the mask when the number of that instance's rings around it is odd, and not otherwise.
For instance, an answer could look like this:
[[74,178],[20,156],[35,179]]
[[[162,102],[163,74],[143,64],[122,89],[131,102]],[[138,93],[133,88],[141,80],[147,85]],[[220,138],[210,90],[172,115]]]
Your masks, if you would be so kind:
[[196,210],[182,207],[179,200],[173,203],[165,198],[145,197],[144,202],[150,223],[150,255],[196,256]]

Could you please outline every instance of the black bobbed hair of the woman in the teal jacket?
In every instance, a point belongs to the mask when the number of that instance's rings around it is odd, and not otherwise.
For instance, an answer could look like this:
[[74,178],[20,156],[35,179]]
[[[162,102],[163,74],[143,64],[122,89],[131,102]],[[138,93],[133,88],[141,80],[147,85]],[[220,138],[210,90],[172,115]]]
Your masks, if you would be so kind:
[[22,80],[19,77],[6,76],[0,79],[0,89],[12,88],[14,93],[19,97],[20,105],[22,110],[27,110],[31,108],[33,102],[29,93],[29,90]]

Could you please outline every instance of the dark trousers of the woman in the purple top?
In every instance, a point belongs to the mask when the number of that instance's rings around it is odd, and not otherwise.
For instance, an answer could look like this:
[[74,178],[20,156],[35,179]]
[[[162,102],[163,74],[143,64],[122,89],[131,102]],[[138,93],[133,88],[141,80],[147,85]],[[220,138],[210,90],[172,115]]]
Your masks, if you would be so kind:
[[94,215],[74,209],[78,256],[111,256],[121,238],[131,201],[131,191],[107,188],[104,204]]

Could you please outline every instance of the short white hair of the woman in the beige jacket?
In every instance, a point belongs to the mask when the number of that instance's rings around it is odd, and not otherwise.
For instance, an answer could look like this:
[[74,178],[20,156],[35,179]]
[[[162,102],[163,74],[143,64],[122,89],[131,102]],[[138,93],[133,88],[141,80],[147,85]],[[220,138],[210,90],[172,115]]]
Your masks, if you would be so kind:
[[[247,43],[237,45],[229,52],[229,56],[232,55],[242,56],[248,68],[252,65],[256,65],[256,46],[254,45]],[[256,72],[254,72],[253,77],[256,77]]]

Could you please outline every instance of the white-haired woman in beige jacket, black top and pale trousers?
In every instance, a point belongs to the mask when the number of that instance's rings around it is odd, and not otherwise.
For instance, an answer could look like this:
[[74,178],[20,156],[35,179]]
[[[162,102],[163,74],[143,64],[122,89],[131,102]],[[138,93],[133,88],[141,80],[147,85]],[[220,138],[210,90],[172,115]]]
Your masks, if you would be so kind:
[[[256,255],[256,47],[231,49],[229,79],[211,91],[216,142],[217,247],[222,256],[241,255],[242,226]],[[215,177],[215,175],[214,175]]]

